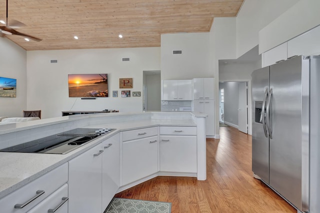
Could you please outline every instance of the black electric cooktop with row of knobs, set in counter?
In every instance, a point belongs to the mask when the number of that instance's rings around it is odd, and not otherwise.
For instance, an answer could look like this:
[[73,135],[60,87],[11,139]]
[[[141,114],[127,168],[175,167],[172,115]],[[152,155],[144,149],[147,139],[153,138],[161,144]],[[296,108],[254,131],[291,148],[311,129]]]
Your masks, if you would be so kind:
[[77,128],[48,137],[1,149],[0,152],[66,154],[115,129]]

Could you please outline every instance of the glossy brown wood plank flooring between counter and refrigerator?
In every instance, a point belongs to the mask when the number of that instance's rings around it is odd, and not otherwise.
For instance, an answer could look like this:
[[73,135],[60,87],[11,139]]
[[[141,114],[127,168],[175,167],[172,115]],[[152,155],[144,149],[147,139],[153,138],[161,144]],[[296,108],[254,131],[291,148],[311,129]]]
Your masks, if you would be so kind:
[[206,140],[207,180],[156,177],[116,194],[172,203],[172,213],[296,213],[252,177],[251,136],[220,127],[220,139]]

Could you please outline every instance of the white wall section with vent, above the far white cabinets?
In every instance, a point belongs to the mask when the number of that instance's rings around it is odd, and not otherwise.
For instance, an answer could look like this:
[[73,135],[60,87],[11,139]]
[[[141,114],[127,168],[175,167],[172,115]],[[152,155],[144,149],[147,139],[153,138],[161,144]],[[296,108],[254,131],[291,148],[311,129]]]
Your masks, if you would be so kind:
[[213,77],[208,44],[208,32],[161,34],[161,80]]

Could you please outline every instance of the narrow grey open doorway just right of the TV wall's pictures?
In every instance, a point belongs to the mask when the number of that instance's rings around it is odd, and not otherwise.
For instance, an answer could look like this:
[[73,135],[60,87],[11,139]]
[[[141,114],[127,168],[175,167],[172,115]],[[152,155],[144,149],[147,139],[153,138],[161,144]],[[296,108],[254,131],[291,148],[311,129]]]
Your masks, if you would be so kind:
[[142,111],[161,111],[160,70],[143,71]]

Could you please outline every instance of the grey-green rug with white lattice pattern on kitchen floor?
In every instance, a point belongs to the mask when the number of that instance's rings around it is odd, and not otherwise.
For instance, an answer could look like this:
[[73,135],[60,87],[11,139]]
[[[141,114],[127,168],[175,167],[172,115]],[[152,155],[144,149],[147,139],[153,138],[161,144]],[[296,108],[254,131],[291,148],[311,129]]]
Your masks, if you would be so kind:
[[113,198],[104,213],[171,213],[171,203]]

